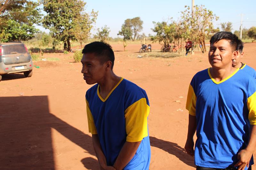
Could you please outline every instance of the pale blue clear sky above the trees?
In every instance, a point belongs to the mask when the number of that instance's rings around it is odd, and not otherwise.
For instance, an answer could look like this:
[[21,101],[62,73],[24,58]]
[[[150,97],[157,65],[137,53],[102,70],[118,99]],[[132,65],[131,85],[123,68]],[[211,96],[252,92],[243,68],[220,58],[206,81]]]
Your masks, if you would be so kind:
[[[192,5],[192,0],[85,0],[86,12],[99,11],[96,24],[92,34],[97,28],[107,25],[111,32],[111,37],[118,37],[117,33],[121,30],[124,20],[127,18],[140,17],[143,23],[143,31],[148,35],[154,34],[151,28],[154,27],[152,21],[161,22],[168,18],[177,20],[180,11],[184,11],[185,5]],[[222,22],[232,22],[233,32],[239,30],[241,24],[241,13],[243,13],[243,28],[256,26],[256,0],[195,0],[195,5],[203,4],[205,8],[213,11],[220,17],[214,21],[214,27],[220,27]],[[39,27],[42,31],[44,28]],[[48,31],[46,31],[48,32]]]

